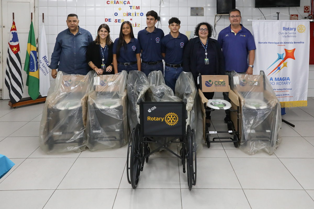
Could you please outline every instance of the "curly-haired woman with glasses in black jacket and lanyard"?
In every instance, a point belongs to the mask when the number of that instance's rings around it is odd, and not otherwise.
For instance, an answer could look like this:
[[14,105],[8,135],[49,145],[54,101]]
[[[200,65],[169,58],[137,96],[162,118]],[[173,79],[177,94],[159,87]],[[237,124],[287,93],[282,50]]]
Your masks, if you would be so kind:
[[[195,85],[198,74],[201,75],[225,75],[224,56],[217,40],[211,39],[213,27],[206,23],[200,23],[195,27],[196,38],[190,39],[183,54],[183,71],[192,72]],[[214,97],[214,92],[203,92],[207,99]],[[210,112],[209,112],[210,113]],[[210,126],[210,114],[206,114],[206,125]]]

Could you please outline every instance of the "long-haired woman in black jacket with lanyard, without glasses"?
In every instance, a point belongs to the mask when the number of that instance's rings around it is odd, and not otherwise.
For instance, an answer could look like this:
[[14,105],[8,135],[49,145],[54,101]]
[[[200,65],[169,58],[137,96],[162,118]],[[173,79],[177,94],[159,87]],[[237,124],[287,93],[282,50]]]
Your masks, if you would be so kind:
[[98,75],[113,74],[112,46],[109,26],[101,24],[95,41],[89,44],[86,51],[86,61]]

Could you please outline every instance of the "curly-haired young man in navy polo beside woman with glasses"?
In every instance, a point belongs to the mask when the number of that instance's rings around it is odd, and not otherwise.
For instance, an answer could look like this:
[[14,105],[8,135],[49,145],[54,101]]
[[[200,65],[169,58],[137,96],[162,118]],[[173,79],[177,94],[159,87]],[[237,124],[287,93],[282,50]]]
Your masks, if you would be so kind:
[[176,80],[183,71],[183,51],[189,42],[186,35],[179,33],[181,21],[171,18],[169,21],[170,33],[161,39],[161,55],[165,60],[165,82],[175,92]]

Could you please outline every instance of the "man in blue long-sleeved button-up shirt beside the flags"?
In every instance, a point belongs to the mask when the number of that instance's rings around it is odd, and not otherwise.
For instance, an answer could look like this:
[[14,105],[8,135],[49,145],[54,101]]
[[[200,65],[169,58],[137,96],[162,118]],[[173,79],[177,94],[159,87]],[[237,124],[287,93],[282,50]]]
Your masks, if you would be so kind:
[[[78,16],[69,14],[67,18],[68,29],[58,34],[55,48],[51,55],[49,68],[51,76],[57,77],[57,70],[68,74],[86,75],[90,67],[86,63],[86,50],[93,41],[89,31],[78,26]],[[59,64],[59,65],[58,65]]]

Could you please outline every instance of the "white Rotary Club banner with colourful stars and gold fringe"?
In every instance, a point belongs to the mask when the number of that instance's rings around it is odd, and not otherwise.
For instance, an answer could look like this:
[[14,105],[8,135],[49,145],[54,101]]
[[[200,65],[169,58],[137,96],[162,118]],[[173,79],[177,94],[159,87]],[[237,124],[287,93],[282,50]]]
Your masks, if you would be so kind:
[[253,20],[253,74],[264,71],[281,107],[307,106],[310,22]]

